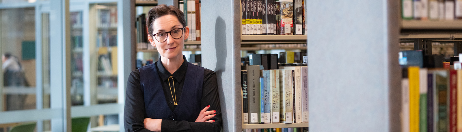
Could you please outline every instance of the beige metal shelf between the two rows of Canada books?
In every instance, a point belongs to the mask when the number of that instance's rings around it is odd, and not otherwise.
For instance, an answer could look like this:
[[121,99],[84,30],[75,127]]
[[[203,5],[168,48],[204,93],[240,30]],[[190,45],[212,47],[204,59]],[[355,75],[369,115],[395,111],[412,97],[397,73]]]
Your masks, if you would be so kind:
[[242,35],[241,44],[306,43],[306,35]]

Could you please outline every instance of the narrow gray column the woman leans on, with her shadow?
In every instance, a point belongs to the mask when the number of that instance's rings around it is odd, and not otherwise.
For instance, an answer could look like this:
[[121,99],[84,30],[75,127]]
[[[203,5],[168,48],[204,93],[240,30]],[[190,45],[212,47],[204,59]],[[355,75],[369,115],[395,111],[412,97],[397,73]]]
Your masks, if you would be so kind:
[[201,2],[202,66],[217,74],[224,131],[241,132],[241,1]]

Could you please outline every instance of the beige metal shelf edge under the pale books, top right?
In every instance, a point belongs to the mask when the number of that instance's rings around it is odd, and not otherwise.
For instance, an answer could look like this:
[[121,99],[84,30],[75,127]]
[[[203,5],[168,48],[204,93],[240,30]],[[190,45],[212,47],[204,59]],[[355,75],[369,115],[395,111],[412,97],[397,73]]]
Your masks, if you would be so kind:
[[454,21],[403,20],[401,21],[401,29],[462,30],[462,20],[454,20]]

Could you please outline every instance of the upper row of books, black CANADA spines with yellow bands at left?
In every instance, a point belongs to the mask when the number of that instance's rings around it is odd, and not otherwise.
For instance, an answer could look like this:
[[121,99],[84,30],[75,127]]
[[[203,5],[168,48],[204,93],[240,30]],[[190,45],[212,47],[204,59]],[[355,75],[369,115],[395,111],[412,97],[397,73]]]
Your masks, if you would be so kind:
[[304,1],[241,0],[242,35],[306,35]]

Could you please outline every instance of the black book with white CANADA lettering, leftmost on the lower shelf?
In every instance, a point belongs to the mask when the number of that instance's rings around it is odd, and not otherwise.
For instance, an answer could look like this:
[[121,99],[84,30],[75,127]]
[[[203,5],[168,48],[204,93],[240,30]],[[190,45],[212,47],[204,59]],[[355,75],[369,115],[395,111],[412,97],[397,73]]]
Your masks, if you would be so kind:
[[243,108],[243,123],[248,124],[249,123],[249,102],[248,102],[248,97],[247,97],[247,71],[246,70],[241,70],[241,82],[242,82],[242,108]]

